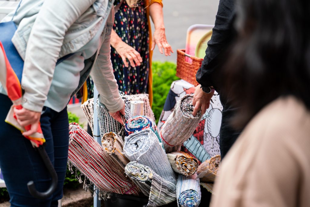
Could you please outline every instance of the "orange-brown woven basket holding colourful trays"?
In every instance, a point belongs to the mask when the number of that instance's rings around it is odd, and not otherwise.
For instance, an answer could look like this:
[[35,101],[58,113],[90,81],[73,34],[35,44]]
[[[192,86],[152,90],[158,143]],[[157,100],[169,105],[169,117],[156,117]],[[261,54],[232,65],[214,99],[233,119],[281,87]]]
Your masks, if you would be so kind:
[[[195,86],[199,85],[196,81],[196,73],[203,59],[186,54],[184,49],[177,50],[177,54],[176,76]],[[191,58],[193,62],[186,62],[185,56]]]

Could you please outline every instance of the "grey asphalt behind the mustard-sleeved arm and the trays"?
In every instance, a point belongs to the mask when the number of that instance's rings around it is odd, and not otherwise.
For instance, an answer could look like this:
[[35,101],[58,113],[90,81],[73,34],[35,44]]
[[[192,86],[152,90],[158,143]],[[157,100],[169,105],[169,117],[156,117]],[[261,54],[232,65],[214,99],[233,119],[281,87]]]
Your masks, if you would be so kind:
[[[174,54],[166,57],[155,47],[153,61],[176,62],[176,50],[185,49],[189,26],[214,25],[219,0],[164,0],[163,4],[166,37]],[[154,27],[152,31],[154,32]]]

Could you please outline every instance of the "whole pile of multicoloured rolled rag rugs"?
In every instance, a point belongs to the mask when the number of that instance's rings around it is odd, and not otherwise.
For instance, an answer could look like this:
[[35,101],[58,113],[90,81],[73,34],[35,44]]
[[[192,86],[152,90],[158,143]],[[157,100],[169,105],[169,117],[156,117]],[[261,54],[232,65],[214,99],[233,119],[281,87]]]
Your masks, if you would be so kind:
[[[121,96],[125,101],[125,126],[115,121],[102,103],[95,103],[101,145],[78,124],[70,124],[70,169],[75,166],[80,170],[100,190],[101,199],[117,193],[148,196],[150,207],[171,202],[178,207],[198,206],[201,191],[197,173],[204,168],[198,167],[196,158],[180,151],[201,119],[200,111],[193,116],[193,96],[181,97],[160,133],[148,95],[121,93]],[[93,105],[93,100],[89,100],[82,106],[90,124],[93,124]],[[87,189],[87,184],[84,185]]]

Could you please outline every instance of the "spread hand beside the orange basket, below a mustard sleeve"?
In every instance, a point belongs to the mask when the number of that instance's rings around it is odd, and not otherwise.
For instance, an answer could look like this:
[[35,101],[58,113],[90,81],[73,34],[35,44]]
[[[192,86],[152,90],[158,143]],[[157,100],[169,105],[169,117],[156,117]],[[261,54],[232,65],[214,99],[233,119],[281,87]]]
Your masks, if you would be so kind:
[[167,42],[164,28],[155,29],[154,35],[152,38],[152,49],[151,50],[154,50],[155,44],[157,44],[160,53],[163,53],[162,51],[164,51],[166,56],[168,55],[170,56],[171,52],[173,53],[173,50],[170,44]]

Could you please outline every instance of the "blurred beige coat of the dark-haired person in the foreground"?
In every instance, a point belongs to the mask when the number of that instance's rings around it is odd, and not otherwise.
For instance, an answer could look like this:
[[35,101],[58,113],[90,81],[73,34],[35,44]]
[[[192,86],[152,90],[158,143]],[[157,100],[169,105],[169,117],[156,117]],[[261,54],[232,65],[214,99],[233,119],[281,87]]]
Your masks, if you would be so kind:
[[212,207],[309,207],[310,111],[279,98],[246,126],[221,164]]

